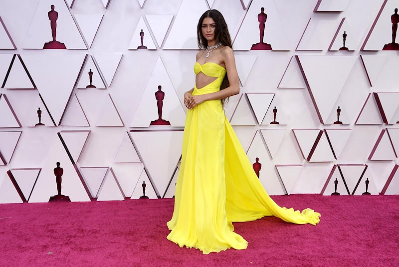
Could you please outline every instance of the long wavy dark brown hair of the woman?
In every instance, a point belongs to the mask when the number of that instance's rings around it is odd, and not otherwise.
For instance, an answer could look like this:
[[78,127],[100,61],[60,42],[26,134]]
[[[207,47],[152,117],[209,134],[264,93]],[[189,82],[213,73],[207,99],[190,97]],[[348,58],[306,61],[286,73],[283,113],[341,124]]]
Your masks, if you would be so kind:
[[[208,40],[205,39],[202,35],[202,21],[205,17],[210,17],[215,22],[215,41],[216,43],[221,42],[222,45],[228,46],[231,49],[233,48],[233,44],[231,42],[230,33],[228,32],[227,23],[224,20],[223,15],[216,9],[209,9],[205,11],[198,21],[197,25],[197,39],[198,39],[198,47],[200,49],[205,49],[208,46]],[[230,86],[228,82],[227,74],[224,76],[223,81],[220,85],[220,90],[227,88]],[[223,105],[227,103],[228,97],[221,100]]]

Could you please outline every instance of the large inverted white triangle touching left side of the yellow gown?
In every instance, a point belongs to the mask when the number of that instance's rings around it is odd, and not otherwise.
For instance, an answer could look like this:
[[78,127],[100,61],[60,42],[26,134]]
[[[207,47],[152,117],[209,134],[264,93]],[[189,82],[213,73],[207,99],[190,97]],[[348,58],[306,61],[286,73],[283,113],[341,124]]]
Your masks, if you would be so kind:
[[[182,153],[183,131],[134,131],[131,136],[158,193],[163,194]],[[170,164],[159,164],[166,160]]]

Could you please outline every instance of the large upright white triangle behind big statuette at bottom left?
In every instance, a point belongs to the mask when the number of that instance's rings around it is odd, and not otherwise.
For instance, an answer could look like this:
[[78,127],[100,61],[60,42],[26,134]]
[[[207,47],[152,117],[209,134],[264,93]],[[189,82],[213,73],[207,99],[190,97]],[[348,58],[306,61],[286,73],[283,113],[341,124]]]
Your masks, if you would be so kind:
[[54,175],[54,168],[57,167],[56,162],[59,162],[60,167],[63,168],[61,194],[68,196],[72,202],[90,201],[75,167],[72,165],[61,140],[57,136],[54,138],[53,145],[44,161],[29,202],[48,202],[50,197],[57,195],[57,184]]

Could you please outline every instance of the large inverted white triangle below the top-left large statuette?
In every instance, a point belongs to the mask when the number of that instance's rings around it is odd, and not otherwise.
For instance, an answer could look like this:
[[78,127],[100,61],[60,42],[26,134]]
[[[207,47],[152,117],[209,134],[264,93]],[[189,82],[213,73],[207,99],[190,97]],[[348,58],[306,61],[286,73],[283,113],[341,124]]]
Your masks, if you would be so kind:
[[85,55],[23,54],[21,57],[55,123],[59,125]]

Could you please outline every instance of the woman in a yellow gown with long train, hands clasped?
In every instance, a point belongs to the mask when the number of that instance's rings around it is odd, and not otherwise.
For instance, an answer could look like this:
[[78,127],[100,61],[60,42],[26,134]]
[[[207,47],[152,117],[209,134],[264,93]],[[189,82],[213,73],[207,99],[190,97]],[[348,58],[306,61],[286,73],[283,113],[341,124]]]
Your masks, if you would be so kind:
[[222,102],[239,93],[239,81],[222,14],[215,9],[203,13],[197,33],[196,84],[184,96],[189,110],[168,239],[208,254],[246,249],[231,222],[276,216],[316,225],[319,213],[281,208],[268,196],[224,115]]

